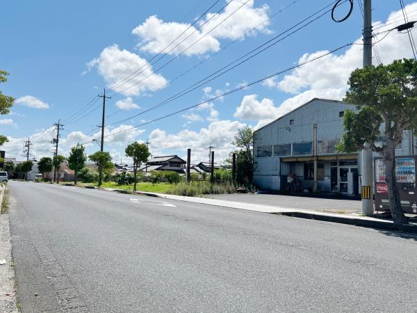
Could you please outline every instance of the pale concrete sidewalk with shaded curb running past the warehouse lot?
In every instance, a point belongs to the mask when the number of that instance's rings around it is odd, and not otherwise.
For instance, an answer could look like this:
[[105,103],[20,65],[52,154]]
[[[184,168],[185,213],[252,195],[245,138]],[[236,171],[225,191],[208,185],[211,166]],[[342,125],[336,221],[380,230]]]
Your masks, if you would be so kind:
[[[115,188],[102,188],[108,191],[122,191]],[[123,191],[122,191],[123,192]],[[417,223],[407,225],[393,223],[392,220],[383,220],[368,216],[360,216],[357,213],[349,212],[348,214],[338,214],[336,212],[314,211],[312,209],[300,209],[294,207],[280,207],[276,205],[255,204],[247,202],[236,202],[229,200],[218,200],[212,198],[185,197],[181,195],[167,195],[163,193],[150,193],[137,191],[136,194],[149,195],[152,197],[164,198],[167,200],[177,200],[184,202],[193,202],[199,204],[215,205],[217,207],[228,207],[231,209],[242,209],[247,211],[256,211],[268,214],[281,214],[297,218],[308,218],[311,220],[323,220],[332,223],[342,223],[347,225],[356,225],[361,227],[376,228],[379,230],[402,231],[417,234]]]

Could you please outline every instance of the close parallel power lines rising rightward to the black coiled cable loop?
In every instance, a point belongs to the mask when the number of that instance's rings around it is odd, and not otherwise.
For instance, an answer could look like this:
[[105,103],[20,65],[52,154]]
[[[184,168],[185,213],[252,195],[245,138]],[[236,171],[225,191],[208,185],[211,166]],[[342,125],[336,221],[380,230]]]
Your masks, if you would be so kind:
[[[345,0],[347,1],[347,0]],[[142,115],[144,113],[147,113],[149,111],[152,111],[154,109],[157,109],[158,107],[161,107],[169,102],[174,101],[175,99],[178,99],[179,97],[183,97],[184,95],[187,95],[188,93],[190,93],[191,91],[203,86],[204,84],[213,81],[214,79],[220,77],[221,75],[229,72],[230,70],[233,70],[234,68],[238,67],[239,65],[249,61],[251,58],[254,58],[254,56],[260,54],[261,52],[265,51],[266,49],[269,49],[270,47],[276,45],[278,42],[281,42],[282,40],[288,38],[290,35],[293,35],[293,33],[296,33],[297,31],[300,31],[301,29],[304,29],[304,27],[308,26],[309,24],[315,22],[317,19],[320,19],[320,17],[324,16],[325,14],[329,13],[330,11],[332,11],[332,9],[330,10],[326,10],[324,13],[321,13],[320,15],[318,15],[318,13],[322,12],[323,10],[325,10],[326,8],[329,8],[330,6],[332,6],[336,1],[332,1],[332,3],[330,3],[329,5],[325,6],[324,8],[318,10],[316,13],[313,13],[312,15],[310,15],[309,17],[306,17],[305,19],[303,19],[301,22],[298,22],[297,24],[295,24],[294,26],[291,26],[289,29],[287,29],[286,31],[283,31],[281,33],[279,33],[279,35],[276,35],[274,38],[264,42],[262,45],[259,45],[258,47],[252,49],[251,51],[247,52],[247,54],[240,56],[240,58],[237,58],[235,61],[225,65],[224,67],[220,68],[220,70],[217,70],[215,72],[213,72],[212,74],[208,75],[207,77],[205,77],[204,79],[201,79],[199,81],[197,81],[197,83],[194,83],[192,86],[181,90],[179,93],[177,93],[176,95],[169,97],[167,99],[165,99],[163,102],[160,102],[158,104],[156,104],[155,106],[152,106],[149,109],[146,109],[145,111],[142,111],[140,113],[137,113],[135,115],[130,116],[129,118],[124,118],[123,120],[119,120],[117,122],[113,122],[110,125],[115,125],[115,124],[120,124],[121,122],[125,122],[126,120],[130,120],[131,118],[136,118],[139,115]],[[339,3],[339,5],[341,5],[343,3]],[[315,15],[318,15],[318,17],[315,17],[314,19],[311,19],[311,17],[314,17]],[[309,19],[311,19],[309,22]],[[297,26],[301,25],[302,23],[306,22],[306,24],[303,24],[302,26],[298,27],[297,29],[295,29]],[[295,29],[295,31],[292,31],[290,33],[288,33],[289,31],[291,31],[292,29]],[[281,35],[284,35],[288,33],[287,35],[285,35],[283,38],[280,38],[279,40],[277,40],[277,38],[281,37]],[[277,40],[277,41],[275,41]],[[269,44],[269,45],[268,45]],[[265,47],[266,46],[266,47]],[[264,47],[263,49],[261,49],[262,47]],[[261,50],[259,50],[261,49]],[[256,53],[254,53],[256,50]],[[254,53],[254,54],[252,54]],[[250,55],[252,54],[252,56]],[[243,61],[240,61],[242,60]],[[240,61],[239,63],[235,64],[236,62]],[[233,65],[233,66],[231,66]],[[227,67],[231,66],[230,68],[227,69]],[[222,72],[223,71],[223,72]],[[218,74],[220,73],[220,74]],[[217,75],[216,75],[217,74]]]

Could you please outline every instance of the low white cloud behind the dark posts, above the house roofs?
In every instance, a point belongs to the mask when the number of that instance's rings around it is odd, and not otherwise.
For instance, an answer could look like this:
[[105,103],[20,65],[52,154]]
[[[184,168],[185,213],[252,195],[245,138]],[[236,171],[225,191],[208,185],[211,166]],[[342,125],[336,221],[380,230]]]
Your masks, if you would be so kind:
[[215,161],[220,163],[235,149],[231,142],[236,131],[245,126],[238,121],[219,120],[199,131],[184,129],[177,134],[167,134],[157,128],[149,135],[149,148],[154,156],[175,153],[180,157],[185,156],[187,148],[190,148],[191,162],[197,164],[208,161],[208,145],[211,144],[214,146]]

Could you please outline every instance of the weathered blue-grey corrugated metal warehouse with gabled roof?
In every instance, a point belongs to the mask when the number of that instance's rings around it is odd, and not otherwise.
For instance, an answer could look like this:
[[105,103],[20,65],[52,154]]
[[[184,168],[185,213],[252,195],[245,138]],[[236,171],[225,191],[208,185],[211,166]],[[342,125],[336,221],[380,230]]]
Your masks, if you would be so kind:
[[[254,131],[254,184],[272,191],[359,194],[360,152],[336,152],[346,109],[357,111],[353,104],[315,98]],[[395,153],[414,154],[412,142],[411,131],[404,131]]]

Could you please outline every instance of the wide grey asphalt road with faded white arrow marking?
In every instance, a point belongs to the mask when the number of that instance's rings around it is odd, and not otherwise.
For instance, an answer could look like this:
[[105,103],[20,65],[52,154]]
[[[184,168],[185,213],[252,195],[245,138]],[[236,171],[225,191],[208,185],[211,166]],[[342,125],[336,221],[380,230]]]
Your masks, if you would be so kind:
[[22,312],[417,310],[416,236],[70,186],[9,186]]

